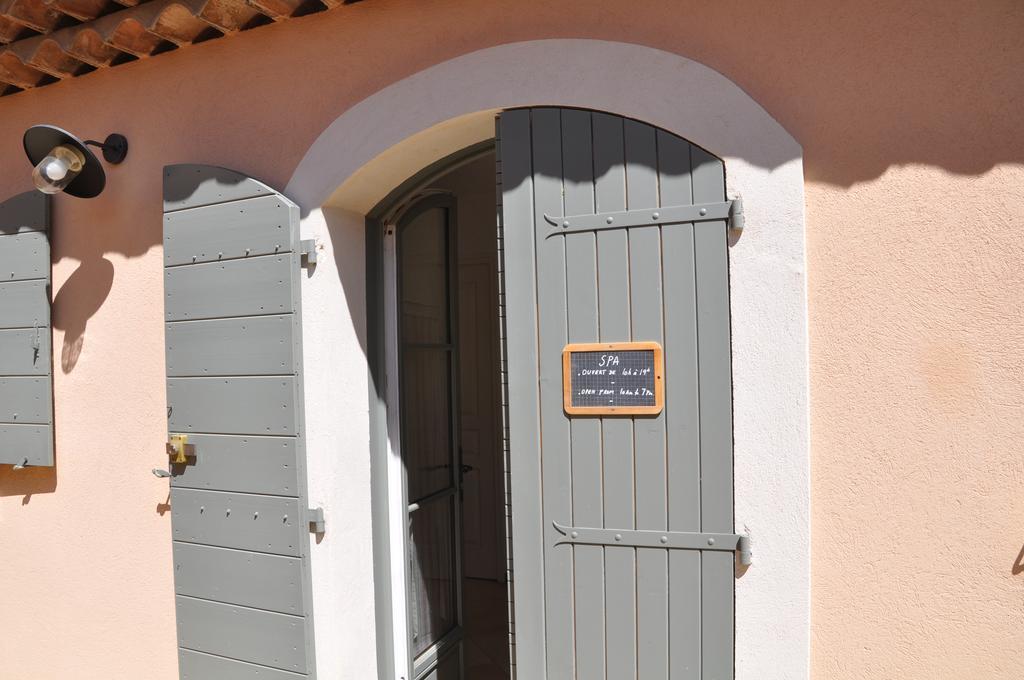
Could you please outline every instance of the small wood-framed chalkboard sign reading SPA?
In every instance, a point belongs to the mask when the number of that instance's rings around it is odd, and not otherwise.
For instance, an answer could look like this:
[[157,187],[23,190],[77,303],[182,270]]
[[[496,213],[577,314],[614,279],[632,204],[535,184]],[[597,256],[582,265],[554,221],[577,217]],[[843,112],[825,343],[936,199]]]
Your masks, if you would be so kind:
[[656,342],[592,342],[562,350],[562,397],[572,416],[662,413],[665,381]]

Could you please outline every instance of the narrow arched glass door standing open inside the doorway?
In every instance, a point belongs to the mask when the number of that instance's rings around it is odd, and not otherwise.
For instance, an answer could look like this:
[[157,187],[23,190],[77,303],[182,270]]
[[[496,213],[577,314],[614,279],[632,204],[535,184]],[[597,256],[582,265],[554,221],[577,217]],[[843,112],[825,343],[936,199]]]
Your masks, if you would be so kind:
[[397,236],[398,371],[414,680],[462,678],[455,201],[420,200]]

